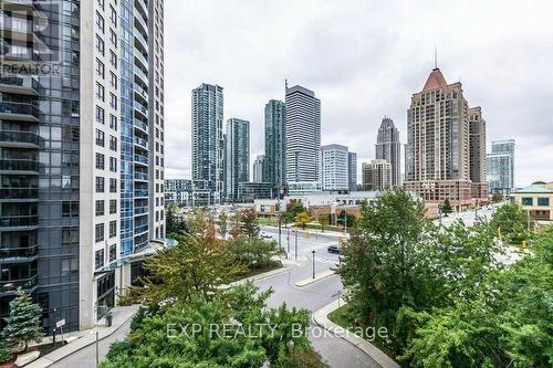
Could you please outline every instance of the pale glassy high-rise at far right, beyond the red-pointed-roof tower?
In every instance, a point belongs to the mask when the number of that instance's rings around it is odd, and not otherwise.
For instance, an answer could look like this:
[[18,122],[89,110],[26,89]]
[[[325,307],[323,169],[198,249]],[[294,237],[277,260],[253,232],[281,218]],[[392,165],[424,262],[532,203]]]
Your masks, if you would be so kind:
[[490,193],[511,193],[514,189],[514,139],[492,141],[487,161]]

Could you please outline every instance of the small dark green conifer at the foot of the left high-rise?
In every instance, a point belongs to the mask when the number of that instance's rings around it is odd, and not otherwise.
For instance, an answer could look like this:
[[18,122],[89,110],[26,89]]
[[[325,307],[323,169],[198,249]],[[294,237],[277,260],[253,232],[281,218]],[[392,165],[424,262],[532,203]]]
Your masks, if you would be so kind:
[[19,349],[23,345],[27,351],[29,343],[42,340],[42,308],[33,303],[32,297],[22,288],[10,302],[10,315],[6,318],[2,336],[9,347]]

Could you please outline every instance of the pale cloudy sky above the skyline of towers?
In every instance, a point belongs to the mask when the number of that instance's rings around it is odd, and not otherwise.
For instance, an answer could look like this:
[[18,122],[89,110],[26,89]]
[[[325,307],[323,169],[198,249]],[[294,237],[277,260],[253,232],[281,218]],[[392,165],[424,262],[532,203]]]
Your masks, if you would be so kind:
[[[284,80],[321,98],[322,143],[359,166],[375,157],[382,118],[406,140],[406,111],[434,66],[461,81],[491,140],[517,140],[517,186],[553,180],[553,2],[165,0],[166,177],[190,178],[190,91],[225,87],[225,119],[251,122]],[[359,175],[361,181],[361,175]]]

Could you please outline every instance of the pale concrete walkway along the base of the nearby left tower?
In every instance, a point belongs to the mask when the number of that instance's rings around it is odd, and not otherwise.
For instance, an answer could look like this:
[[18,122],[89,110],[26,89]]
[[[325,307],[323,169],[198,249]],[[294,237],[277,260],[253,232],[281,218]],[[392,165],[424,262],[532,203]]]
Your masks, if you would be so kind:
[[[67,345],[55,349],[54,351],[34,360],[33,362],[27,365],[27,368],[44,368],[53,365],[54,362],[76,353],[92,344],[96,343],[96,334],[94,332],[98,332],[98,341],[109,337],[117,329],[123,326],[128,319],[133,318],[135,313],[138,311],[138,305],[132,306],[118,306],[112,309],[113,323],[111,327],[106,327],[103,324],[103,319],[98,322],[98,326],[92,329],[84,329],[80,332],[74,332],[70,334],[64,334],[65,340],[71,340]],[[100,325],[102,324],[102,325]],[[56,336],[56,339],[61,339],[61,335]],[[52,341],[52,337],[46,337],[46,341]]]

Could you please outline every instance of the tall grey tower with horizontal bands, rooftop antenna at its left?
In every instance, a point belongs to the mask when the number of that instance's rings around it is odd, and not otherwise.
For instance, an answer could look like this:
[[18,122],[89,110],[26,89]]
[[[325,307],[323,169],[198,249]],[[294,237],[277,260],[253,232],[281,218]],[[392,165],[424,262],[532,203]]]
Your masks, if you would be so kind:
[[285,170],[292,187],[321,182],[321,101],[302,86],[288,88],[285,98]]

